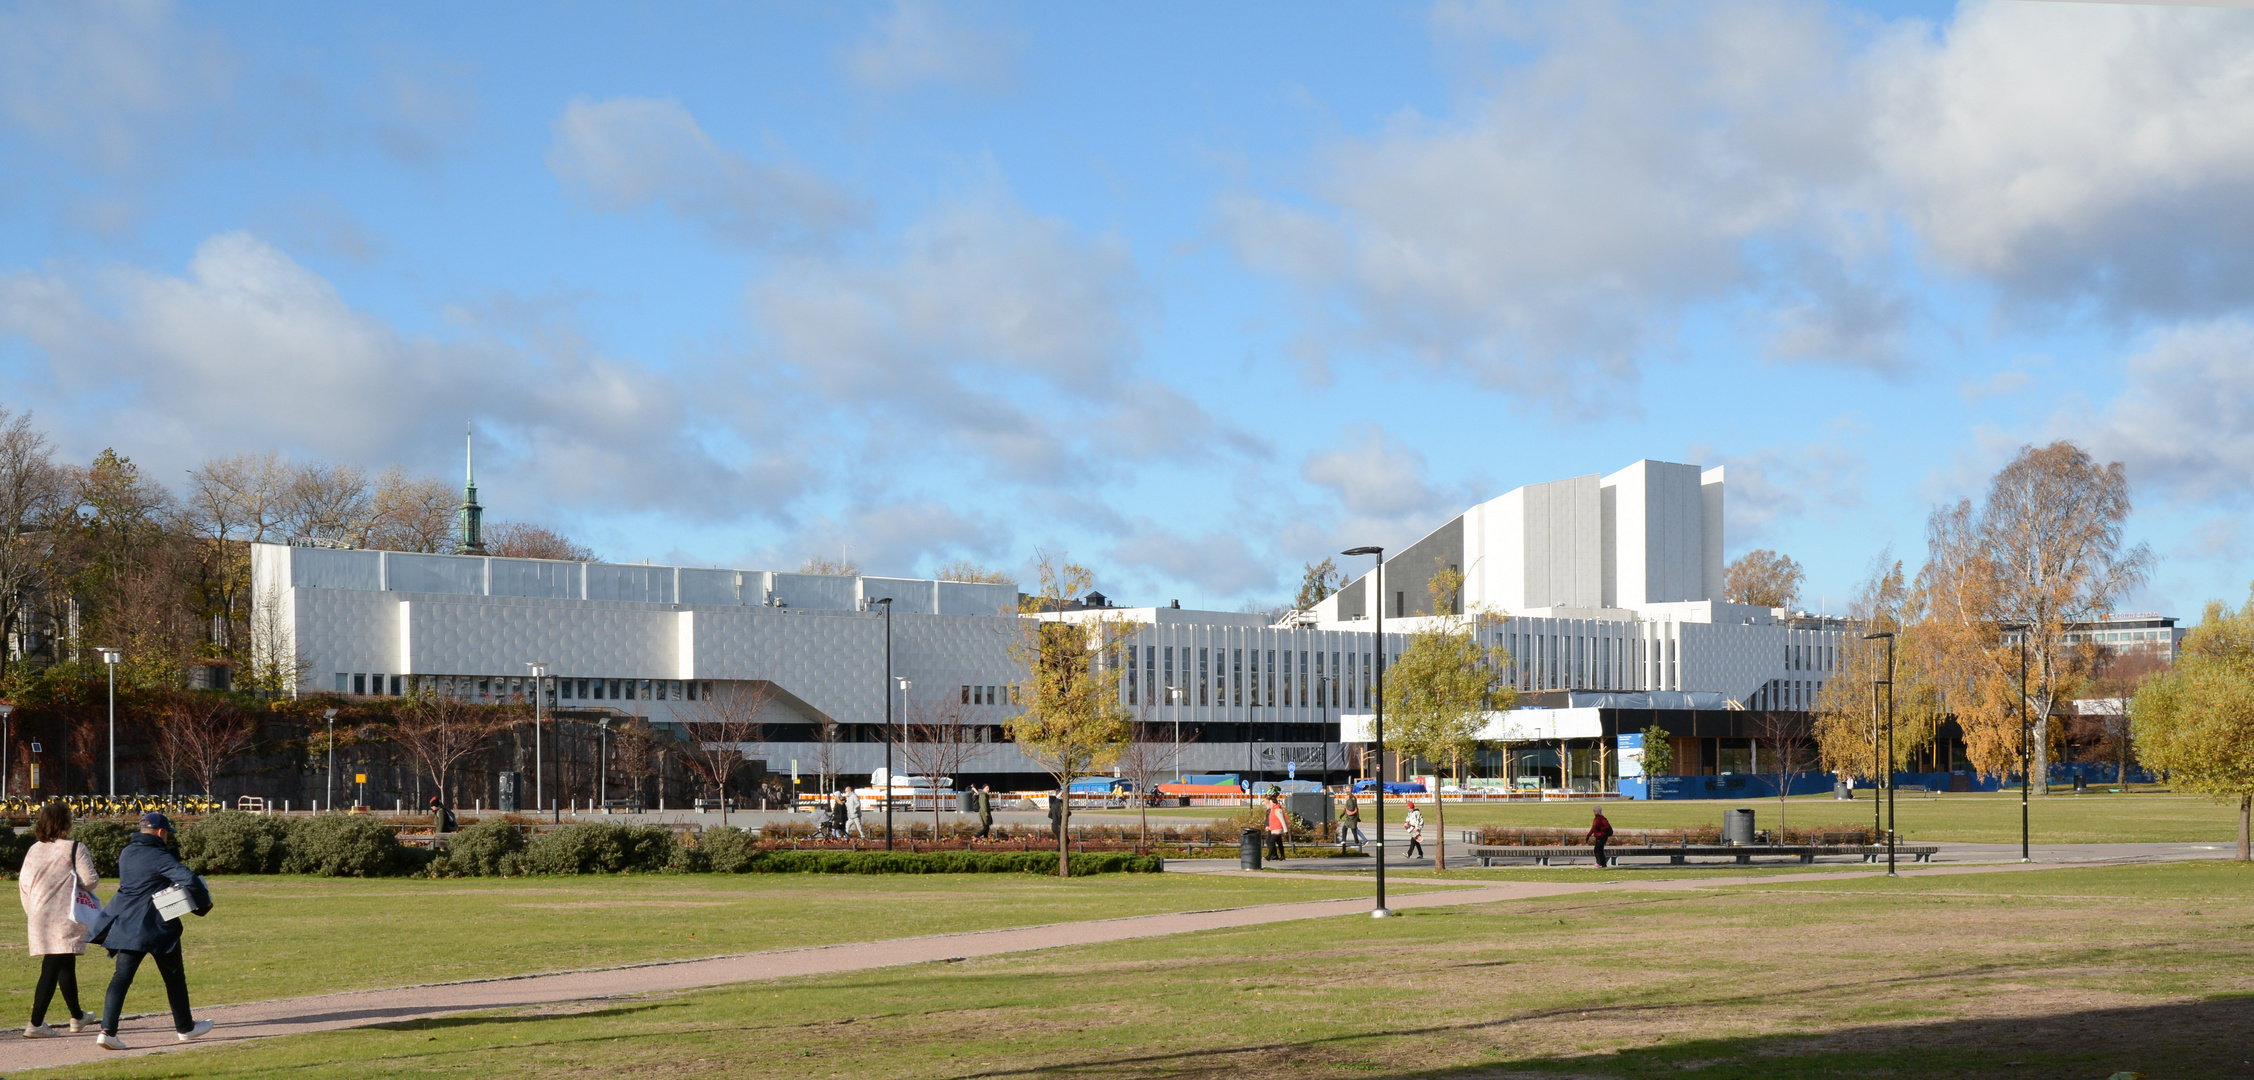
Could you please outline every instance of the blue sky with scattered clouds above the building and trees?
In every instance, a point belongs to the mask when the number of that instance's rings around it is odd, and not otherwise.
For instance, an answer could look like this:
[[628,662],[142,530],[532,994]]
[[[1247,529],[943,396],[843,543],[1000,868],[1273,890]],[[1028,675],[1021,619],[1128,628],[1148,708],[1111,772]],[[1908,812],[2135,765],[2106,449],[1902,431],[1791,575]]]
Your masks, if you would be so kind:
[[0,5],[0,406],[609,559],[1237,607],[1722,464],[1839,607],[2029,442],[2247,588],[2254,11]]

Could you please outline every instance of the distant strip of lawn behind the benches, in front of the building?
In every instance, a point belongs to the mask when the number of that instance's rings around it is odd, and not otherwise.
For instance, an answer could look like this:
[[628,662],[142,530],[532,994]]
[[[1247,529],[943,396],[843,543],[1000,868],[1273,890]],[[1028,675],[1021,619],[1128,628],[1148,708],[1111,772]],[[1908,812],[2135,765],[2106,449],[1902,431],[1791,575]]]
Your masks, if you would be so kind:
[[[1855,800],[1839,803],[1830,796],[1799,796],[1785,800],[1787,825],[1869,825],[1871,791],[1857,789]],[[1431,821],[1431,803],[1425,800],[1425,821]],[[1704,798],[1666,803],[1605,803],[1605,816],[1623,830],[1677,830],[1695,825],[1720,825],[1722,812],[1751,807],[1760,827],[1776,825],[1774,798]],[[1404,807],[1386,798],[1386,821],[1397,823]],[[1152,823],[1170,818],[1213,818],[1224,814],[1217,807],[1152,809]],[[1093,818],[1095,814],[1075,814]],[[1364,832],[1370,832],[1373,812],[1364,805]],[[1909,843],[2020,843],[2020,794],[1975,794],[1975,796],[1896,796],[1896,818],[1902,839]],[[2035,843],[2236,843],[2236,807],[2200,796],[2177,794],[2056,794],[2035,798],[2029,805]],[[1109,823],[1109,816],[1104,818]],[[1490,803],[1449,805],[1449,830],[1472,825],[1555,825],[1587,827],[1587,803]],[[1391,832],[1391,827],[1388,827]],[[1454,841],[1454,832],[1449,832]],[[1429,843],[1429,841],[1427,841]]]

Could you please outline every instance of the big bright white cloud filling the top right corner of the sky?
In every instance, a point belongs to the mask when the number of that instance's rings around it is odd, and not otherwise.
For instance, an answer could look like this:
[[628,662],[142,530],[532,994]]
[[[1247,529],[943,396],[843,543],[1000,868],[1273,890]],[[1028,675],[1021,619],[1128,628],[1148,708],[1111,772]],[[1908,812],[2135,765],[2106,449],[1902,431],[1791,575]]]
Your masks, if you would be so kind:
[[2029,300],[2254,300],[2254,11],[1968,2],[1866,61],[1873,158],[1947,266]]

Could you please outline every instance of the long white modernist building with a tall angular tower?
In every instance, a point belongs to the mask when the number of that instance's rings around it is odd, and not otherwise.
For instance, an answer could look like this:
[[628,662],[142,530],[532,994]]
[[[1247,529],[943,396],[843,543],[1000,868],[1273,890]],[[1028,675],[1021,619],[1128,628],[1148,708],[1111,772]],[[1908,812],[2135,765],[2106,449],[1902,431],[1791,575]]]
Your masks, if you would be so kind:
[[[1463,570],[1461,607],[1501,616],[1485,634],[1512,656],[1521,697],[1544,706],[1492,717],[1499,740],[1603,740],[1618,710],[1805,710],[1842,631],[1722,602],[1722,510],[1720,469],[1645,460],[1481,503],[1388,557],[1382,575],[1274,625],[1109,604],[1041,618],[1132,627],[1122,697],[1159,742],[1179,731],[1165,771],[1346,769],[1343,744],[1368,740],[1377,649],[1397,656],[1420,618],[1436,618],[1425,588],[1436,568]],[[884,762],[890,663],[908,679],[895,722],[949,701],[978,726],[987,746],[965,773],[1039,771],[1001,728],[1023,618],[1010,584],[261,543],[252,591],[257,647],[289,656],[304,692],[503,701],[534,692],[527,665],[539,661],[552,706],[665,724],[715,683],[757,683],[775,703],[755,758],[861,776]],[[881,597],[890,629],[872,604]],[[1373,604],[1384,604],[1382,645]],[[836,737],[823,742],[829,724]]]

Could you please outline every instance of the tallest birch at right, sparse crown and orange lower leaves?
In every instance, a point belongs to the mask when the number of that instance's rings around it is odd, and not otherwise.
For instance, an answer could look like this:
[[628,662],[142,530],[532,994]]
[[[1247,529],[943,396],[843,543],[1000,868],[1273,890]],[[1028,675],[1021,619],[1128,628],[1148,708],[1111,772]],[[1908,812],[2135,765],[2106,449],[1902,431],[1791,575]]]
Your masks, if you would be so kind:
[[[2128,471],[2098,464],[2071,442],[2022,446],[1975,507],[1961,501],[1927,521],[1920,586],[1929,611],[1936,681],[1965,731],[1965,755],[1984,773],[2017,767],[2020,661],[2026,638],[2026,701],[2033,712],[2029,780],[2044,794],[2051,715],[2074,697],[2092,649],[2067,640],[2144,582],[2146,546],[2123,548]],[[2024,631],[2004,631],[2024,625]]]

